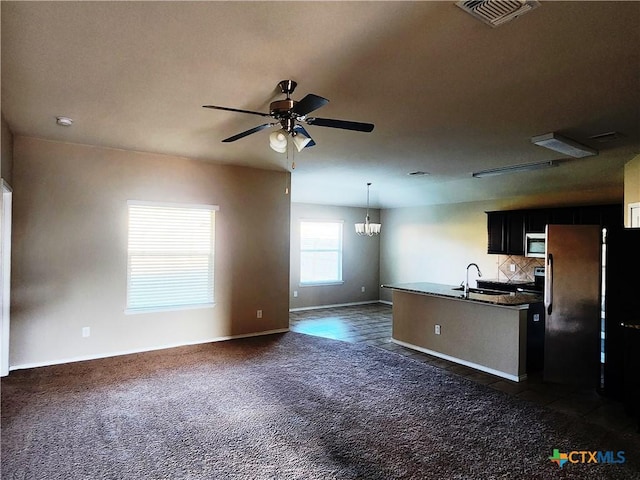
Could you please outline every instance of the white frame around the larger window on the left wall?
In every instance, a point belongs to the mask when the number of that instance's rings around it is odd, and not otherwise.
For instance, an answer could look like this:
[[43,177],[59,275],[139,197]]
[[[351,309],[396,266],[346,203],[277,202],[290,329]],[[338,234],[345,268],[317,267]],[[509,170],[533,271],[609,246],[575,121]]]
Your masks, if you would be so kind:
[[[211,291],[207,293],[210,295],[211,301],[206,302],[186,302],[175,304],[155,304],[149,306],[132,306],[131,302],[131,283],[132,283],[132,257],[145,255],[154,256],[153,253],[149,253],[148,250],[141,250],[139,252],[132,253],[131,245],[131,211],[132,207],[150,207],[150,208],[167,208],[167,209],[185,209],[185,210],[207,210],[211,214],[211,231],[209,237],[209,250],[205,255],[209,256],[208,260],[208,286]],[[196,203],[172,203],[172,202],[155,202],[155,201],[142,201],[142,200],[128,200],[127,201],[127,273],[126,273],[126,292],[125,292],[125,314],[139,314],[139,313],[152,313],[152,312],[165,312],[175,310],[190,310],[199,308],[211,308],[215,306],[215,239],[216,239],[216,212],[220,210],[218,205],[208,204],[196,204]],[[156,256],[168,255],[168,252],[156,253]],[[171,252],[171,256],[188,257],[187,251],[183,252]],[[200,255],[203,255],[200,253]]]

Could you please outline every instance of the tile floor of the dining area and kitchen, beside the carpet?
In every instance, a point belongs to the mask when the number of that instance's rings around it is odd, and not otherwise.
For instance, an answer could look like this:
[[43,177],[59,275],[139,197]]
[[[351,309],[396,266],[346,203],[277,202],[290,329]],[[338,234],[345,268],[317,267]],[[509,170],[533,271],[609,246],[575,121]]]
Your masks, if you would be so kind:
[[294,311],[289,314],[289,323],[294,332],[384,348],[588,422],[622,432],[637,431],[634,420],[624,413],[620,402],[602,397],[594,390],[544,383],[540,375],[512,382],[392,343],[389,305]]

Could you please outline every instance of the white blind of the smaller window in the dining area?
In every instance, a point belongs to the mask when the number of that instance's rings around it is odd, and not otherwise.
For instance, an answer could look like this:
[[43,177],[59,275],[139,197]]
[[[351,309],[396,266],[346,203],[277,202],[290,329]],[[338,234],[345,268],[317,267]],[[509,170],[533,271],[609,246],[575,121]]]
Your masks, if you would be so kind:
[[300,283],[342,282],[342,222],[300,222]]

